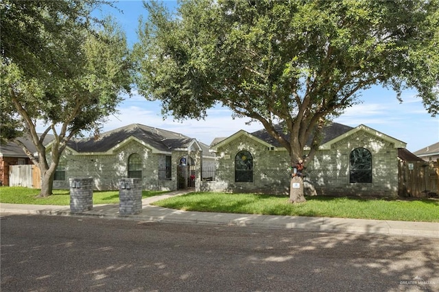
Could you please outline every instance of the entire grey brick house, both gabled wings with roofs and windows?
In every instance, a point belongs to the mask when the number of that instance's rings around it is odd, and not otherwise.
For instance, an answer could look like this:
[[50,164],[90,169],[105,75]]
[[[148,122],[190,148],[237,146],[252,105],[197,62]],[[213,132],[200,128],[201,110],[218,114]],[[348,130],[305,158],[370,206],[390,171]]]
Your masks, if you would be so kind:
[[[305,147],[303,154],[308,150]],[[401,150],[405,143],[366,125],[332,123],[305,169],[305,193],[396,196]],[[0,161],[5,165],[5,156]],[[290,167],[286,149],[265,130],[251,134],[241,130],[215,140],[209,148],[182,134],[132,124],[70,141],[54,188],[69,188],[69,178],[93,178],[96,190],[114,190],[119,179],[132,177],[141,178],[144,190],[287,195]]]

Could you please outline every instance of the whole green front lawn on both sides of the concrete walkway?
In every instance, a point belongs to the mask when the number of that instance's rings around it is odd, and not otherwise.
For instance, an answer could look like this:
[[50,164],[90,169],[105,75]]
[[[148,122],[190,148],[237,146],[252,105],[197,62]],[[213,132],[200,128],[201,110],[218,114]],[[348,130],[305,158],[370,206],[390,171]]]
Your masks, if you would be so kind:
[[[40,190],[0,187],[0,202],[69,206],[69,190],[36,198]],[[163,191],[143,191],[152,197]],[[119,204],[119,191],[93,192],[93,204]],[[439,199],[372,199],[359,197],[307,197],[305,204],[289,204],[287,197],[259,194],[189,193],[155,202],[154,205],[179,210],[243,214],[361,218],[397,221],[439,222]]]

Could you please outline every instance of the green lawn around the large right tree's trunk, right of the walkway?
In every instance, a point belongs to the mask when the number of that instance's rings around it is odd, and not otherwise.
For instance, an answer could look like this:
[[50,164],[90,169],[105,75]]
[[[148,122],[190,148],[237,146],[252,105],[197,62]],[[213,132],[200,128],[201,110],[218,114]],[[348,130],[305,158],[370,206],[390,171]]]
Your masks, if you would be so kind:
[[307,197],[305,204],[290,204],[287,197],[274,195],[189,193],[153,204],[202,212],[439,222],[438,199],[316,196]]

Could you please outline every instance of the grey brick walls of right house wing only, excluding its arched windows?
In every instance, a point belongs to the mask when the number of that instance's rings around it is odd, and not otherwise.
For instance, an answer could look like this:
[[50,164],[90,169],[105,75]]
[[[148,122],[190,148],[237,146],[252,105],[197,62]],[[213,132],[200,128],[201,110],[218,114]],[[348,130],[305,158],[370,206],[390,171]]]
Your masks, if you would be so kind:
[[[372,154],[371,184],[349,182],[349,154],[357,147],[364,147]],[[253,182],[235,182],[235,156],[241,150],[253,156]],[[318,195],[396,196],[397,155],[398,149],[392,143],[359,131],[329,150],[318,151],[305,170],[305,180],[316,188]],[[217,181],[203,183],[203,191],[289,193],[289,156],[285,150],[269,150],[252,138],[243,137],[217,149],[216,165]],[[305,193],[310,191],[305,188]]]

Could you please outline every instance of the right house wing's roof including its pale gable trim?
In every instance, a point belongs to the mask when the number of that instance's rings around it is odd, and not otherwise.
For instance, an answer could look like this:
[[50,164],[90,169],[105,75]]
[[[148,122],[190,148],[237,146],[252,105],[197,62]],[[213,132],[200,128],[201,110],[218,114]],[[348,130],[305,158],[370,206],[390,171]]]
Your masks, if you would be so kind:
[[[281,123],[275,125],[275,128],[278,132],[282,132],[283,124]],[[377,130],[373,130],[372,128],[367,127],[366,125],[350,127],[348,125],[342,125],[341,123],[330,123],[329,125],[323,128],[323,132],[322,132],[323,137],[319,149],[331,149],[331,145],[333,143],[336,143],[337,141],[340,141],[346,138],[347,136],[351,136],[352,134],[355,134],[360,130],[368,132],[374,136],[379,136],[379,138],[382,138],[385,141],[393,143],[395,148],[405,148],[406,146],[406,144],[403,141],[399,141],[398,139],[392,138],[391,136],[383,134]],[[274,139],[270,134],[268,134],[267,130],[263,129],[257,132],[253,132],[251,134],[244,130],[241,130],[228,138],[218,140],[218,142],[215,144],[212,143],[211,148],[215,150],[217,149],[217,147],[225,145],[229,141],[232,141],[235,138],[242,135],[246,135],[249,136],[250,138],[254,138],[255,140],[261,142],[262,144],[268,145],[268,147],[283,147],[281,143],[278,143],[276,139]],[[285,138],[289,139],[289,134],[285,134]],[[309,148],[310,144],[311,141],[308,141],[307,145],[305,145],[305,149]]]

